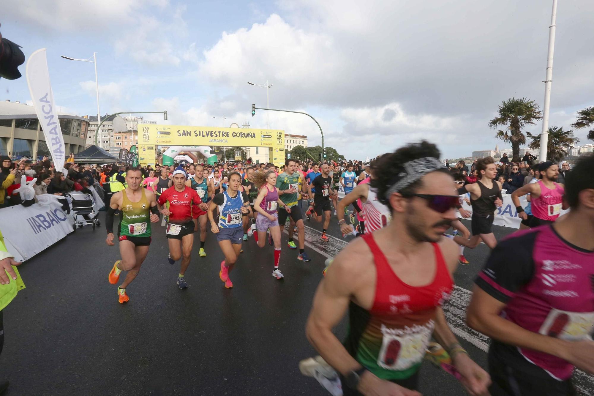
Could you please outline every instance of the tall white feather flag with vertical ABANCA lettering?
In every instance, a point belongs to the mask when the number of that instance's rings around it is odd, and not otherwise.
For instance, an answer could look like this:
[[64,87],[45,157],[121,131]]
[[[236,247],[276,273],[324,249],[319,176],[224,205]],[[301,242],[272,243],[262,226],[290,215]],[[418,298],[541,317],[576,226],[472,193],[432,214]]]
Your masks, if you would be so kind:
[[49,83],[48,59],[45,48],[38,49],[27,61],[27,84],[37,118],[43,129],[56,172],[63,172],[65,149],[58,112],[53,102],[52,86]]

